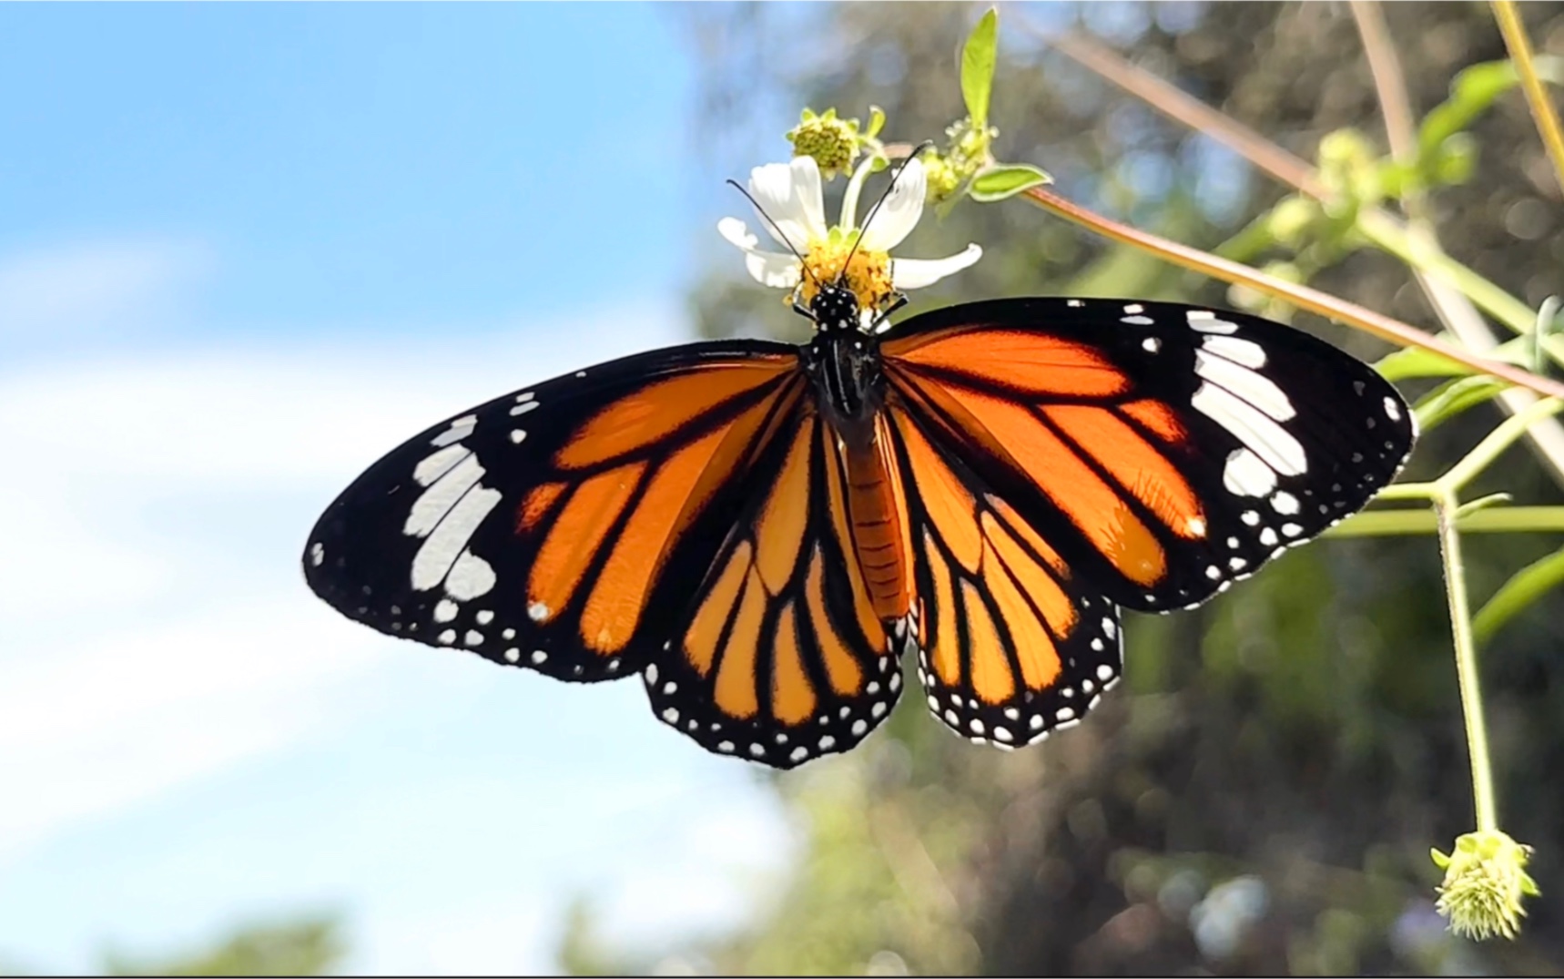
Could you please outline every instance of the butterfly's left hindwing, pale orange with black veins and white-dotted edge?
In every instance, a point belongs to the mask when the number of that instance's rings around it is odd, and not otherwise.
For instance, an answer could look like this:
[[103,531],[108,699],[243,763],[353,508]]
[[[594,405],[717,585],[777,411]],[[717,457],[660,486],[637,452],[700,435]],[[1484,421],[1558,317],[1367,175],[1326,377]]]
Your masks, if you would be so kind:
[[707,749],[793,768],[848,751],[901,693],[896,626],[851,549],[845,461],[801,399],[766,439],[704,580],[644,680],[652,710]]

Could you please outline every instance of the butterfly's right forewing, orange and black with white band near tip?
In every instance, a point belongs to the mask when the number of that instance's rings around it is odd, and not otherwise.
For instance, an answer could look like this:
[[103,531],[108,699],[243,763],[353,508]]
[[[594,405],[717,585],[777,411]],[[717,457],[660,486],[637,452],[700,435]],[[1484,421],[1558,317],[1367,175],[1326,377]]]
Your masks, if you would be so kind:
[[1240,313],[1018,299],[882,342],[891,397],[1079,576],[1198,604],[1359,510],[1414,438],[1372,368]]

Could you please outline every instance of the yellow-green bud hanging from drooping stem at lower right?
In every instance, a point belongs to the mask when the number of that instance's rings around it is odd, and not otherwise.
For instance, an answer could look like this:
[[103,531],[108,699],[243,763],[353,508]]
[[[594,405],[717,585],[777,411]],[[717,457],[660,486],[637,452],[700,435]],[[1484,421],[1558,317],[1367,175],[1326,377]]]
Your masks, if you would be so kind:
[[1537,882],[1526,873],[1531,848],[1498,830],[1467,834],[1447,857],[1433,851],[1445,871],[1434,907],[1450,921],[1450,931],[1467,938],[1514,938],[1526,909],[1520,899],[1537,896]]

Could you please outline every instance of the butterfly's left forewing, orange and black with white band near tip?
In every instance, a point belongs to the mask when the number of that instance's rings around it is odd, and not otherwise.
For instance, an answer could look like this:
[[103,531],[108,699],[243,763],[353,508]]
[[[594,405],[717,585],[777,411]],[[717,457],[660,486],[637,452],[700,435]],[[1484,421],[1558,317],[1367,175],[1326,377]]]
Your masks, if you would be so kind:
[[793,347],[657,350],[507,394],[389,452],[310,533],[346,616],[565,680],[641,669],[668,594],[743,508],[755,433],[798,399]]

